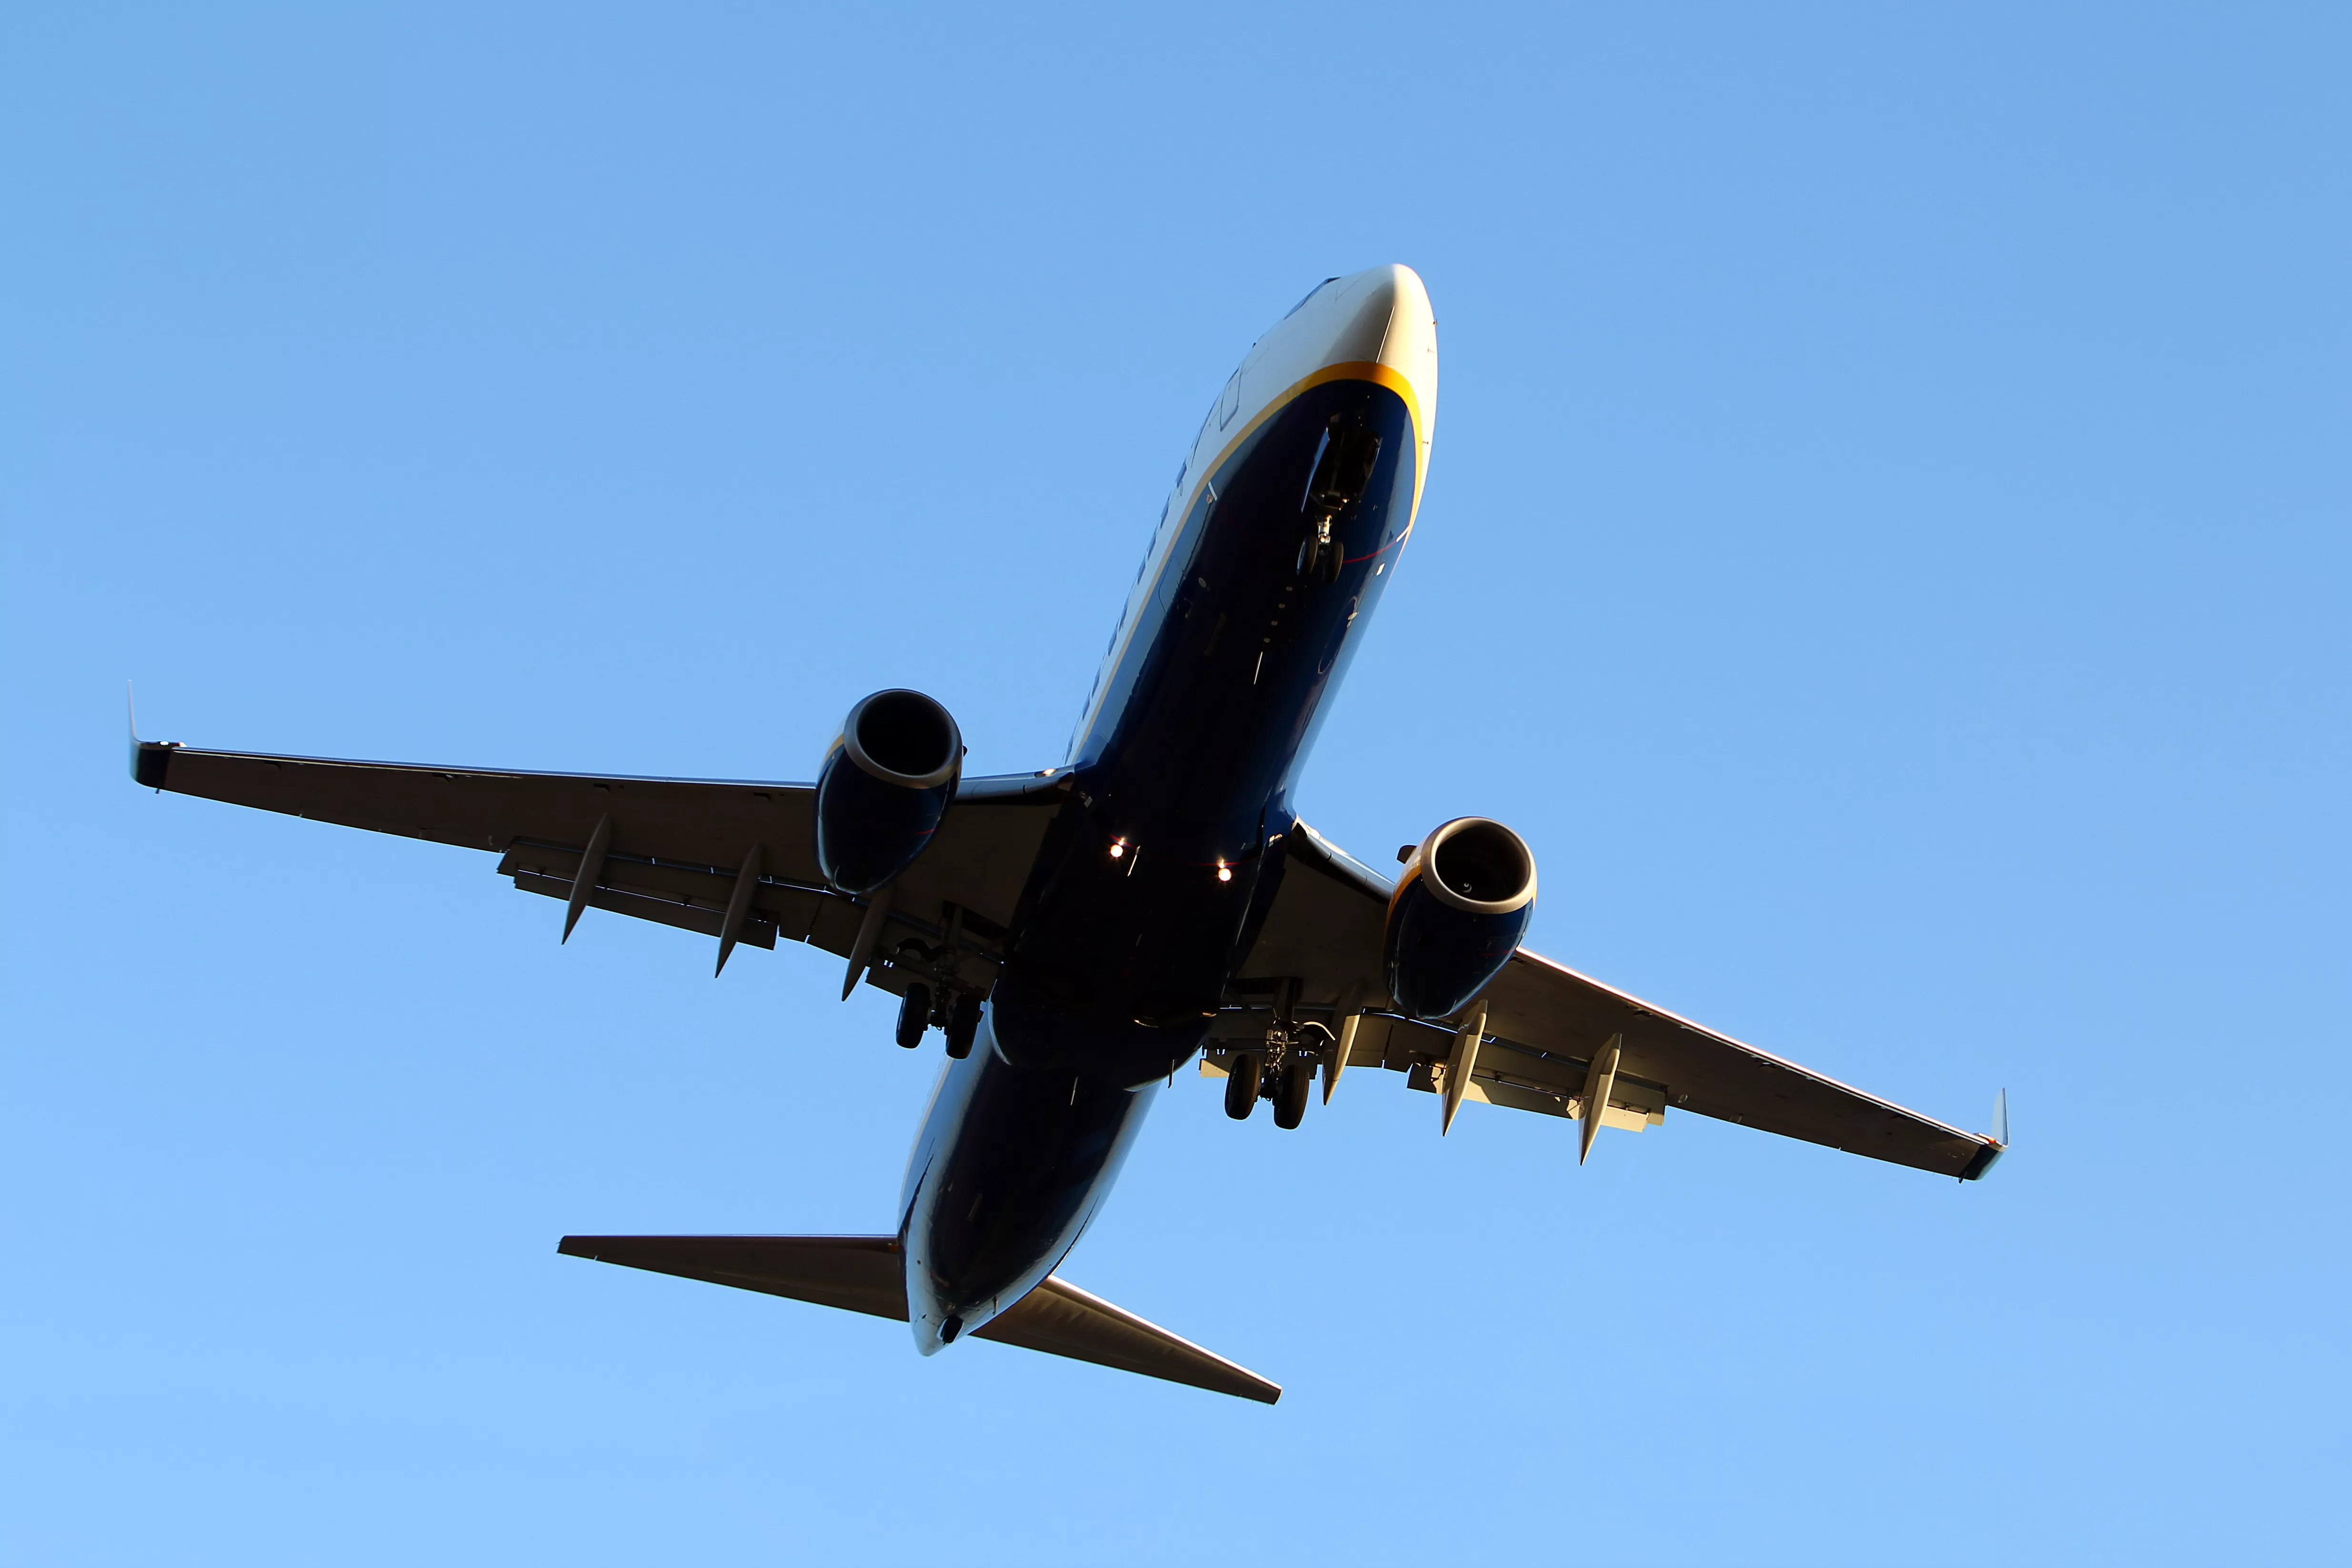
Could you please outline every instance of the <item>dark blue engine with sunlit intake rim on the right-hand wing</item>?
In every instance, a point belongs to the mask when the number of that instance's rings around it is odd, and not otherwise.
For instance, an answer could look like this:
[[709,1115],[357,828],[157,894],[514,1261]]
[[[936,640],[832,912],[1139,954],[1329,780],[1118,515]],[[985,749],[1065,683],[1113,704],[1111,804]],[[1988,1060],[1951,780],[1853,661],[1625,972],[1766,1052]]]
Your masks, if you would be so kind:
[[1536,914],[1536,856],[1503,823],[1458,816],[1404,860],[1388,900],[1388,997],[1449,1018],[1503,973]]

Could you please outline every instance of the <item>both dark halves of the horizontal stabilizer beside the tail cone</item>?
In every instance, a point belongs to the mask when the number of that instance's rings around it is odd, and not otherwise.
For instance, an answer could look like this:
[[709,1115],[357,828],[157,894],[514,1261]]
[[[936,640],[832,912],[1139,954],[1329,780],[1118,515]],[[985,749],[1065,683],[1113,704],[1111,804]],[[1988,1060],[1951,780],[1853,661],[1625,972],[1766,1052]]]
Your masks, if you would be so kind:
[[[906,1262],[894,1237],[564,1237],[555,1251],[906,1321]],[[1258,1403],[1282,1399],[1282,1385],[1058,1274],[971,1335]]]

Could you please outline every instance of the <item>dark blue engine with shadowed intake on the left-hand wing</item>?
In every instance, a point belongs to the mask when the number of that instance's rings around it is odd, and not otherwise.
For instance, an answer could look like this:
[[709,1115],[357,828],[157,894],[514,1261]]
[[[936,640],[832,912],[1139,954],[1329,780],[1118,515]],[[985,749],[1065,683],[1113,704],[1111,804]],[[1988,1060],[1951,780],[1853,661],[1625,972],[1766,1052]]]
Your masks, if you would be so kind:
[[887,886],[931,844],[964,769],[964,736],[920,691],[849,710],[816,773],[816,870],[842,893]]

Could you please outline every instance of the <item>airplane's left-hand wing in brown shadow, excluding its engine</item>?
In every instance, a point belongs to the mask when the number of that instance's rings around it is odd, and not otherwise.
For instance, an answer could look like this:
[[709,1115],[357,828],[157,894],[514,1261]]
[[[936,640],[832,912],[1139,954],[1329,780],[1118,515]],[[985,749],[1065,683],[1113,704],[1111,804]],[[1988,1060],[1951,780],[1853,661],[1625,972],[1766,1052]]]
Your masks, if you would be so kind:
[[[847,957],[866,919],[866,903],[835,893],[816,870],[814,785],[802,783],[435,769],[153,741],[134,743],[132,776],[153,790],[489,851],[499,875],[527,893],[569,905],[579,891],[586,907],[682,926],[727,947],[774,947],[781,936]],[[924,964],[941,961],[985,990],[1063,783],[1018,776],[957,785],[931,846],[891,886],[866,978],[906,992],[908,980],[936,973]],[[588,860],[593,877],[581,889]],[[908,952],[901,961],[908,940],[931,957]]]

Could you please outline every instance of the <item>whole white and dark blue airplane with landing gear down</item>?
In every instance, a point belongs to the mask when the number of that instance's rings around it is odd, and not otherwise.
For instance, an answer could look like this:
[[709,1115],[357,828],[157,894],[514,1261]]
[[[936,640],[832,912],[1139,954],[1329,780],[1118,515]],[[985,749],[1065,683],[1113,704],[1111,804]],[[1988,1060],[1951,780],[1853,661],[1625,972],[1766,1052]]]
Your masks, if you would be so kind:
[[1437,414],[1421,277],[1327,277],[1202,418],[1063,762],[967,778],[948,710],[875,691],[816,783],[442,769],[195,750],[132,733],[153,790],[463,844],[515,889],[739,947],[847,959],[946,1063],[873,1237],[564,1237],[562,1253],[971,1335],[1272,1403],[1279,1385],[1058,1269],[1160,1088],[1296,1128],[1348,1067],[1606,1128],[1670,1110],[1959,1180],[2009,1145],[1849,1088],[1522,947],[1536,858],[1439,823],[1388,877],[1291,792],[1414,534]]

